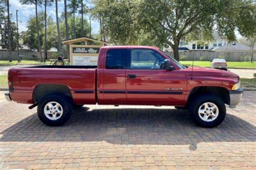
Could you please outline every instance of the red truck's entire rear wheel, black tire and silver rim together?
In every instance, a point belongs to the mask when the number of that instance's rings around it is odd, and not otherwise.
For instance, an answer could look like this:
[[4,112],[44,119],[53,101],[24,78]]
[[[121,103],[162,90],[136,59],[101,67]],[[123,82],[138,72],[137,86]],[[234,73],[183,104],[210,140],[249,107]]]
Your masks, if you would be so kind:
[[44,124],[60,126],[72,115],[72,102],[65,96],[49,95],[39,101],[37,114]]

